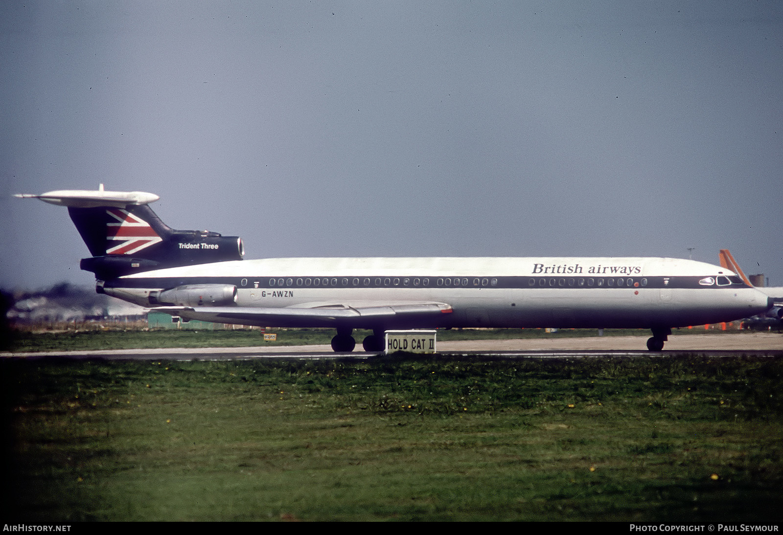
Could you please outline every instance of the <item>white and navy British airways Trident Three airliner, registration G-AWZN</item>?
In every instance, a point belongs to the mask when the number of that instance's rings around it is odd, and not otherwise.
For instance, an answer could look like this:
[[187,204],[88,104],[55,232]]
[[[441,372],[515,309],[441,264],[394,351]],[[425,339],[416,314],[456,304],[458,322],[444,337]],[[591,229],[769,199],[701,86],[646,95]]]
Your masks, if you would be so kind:
[[[185,320],[353,329],[650,329],[660,351],[673,328],[732,321],[773,306],[721,266],[651,257],[267,258],[243,260],[238,236],[164,224],[146,192],[19,194],[67,206],[92,257],[96,291]],[[723,254],[723,251],[721,252]],[[727,251],[725,251],[727,253]],[[730,255],[729,255],[730,256]],[[731,259],[733,261],[733,258]]]

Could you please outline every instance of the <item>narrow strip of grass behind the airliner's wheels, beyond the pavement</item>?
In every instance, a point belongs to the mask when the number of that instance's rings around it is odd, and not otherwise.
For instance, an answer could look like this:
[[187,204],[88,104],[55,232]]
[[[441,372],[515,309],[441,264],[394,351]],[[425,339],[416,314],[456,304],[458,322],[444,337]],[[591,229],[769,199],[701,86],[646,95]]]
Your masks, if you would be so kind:
[[[299,346],[309,344],[329,345],[334,330],[331,329],[267,329],[276,332],[276,342],[265,342],[261,332],[251,330],[153,330],[153,331],[67,331],[67,332],[13,332],[10,350],[75,351],[113,349],[154,349],[168,347],[247,347],[247,346]],[[684,334],[712,333],[720,336],[723,331],[704,329],[680,329]],[[741,332],[741,331],[726,331]],[[354,338],[361,346],[370,331],[356,330]],[[543,329],[466,329],[439,330],[438,340],[471,339],[524,339],[524,338],[573,338],[598,336],[596,329],[563,329],[545,332]],[[607,329],[604,336],[650,336],[645,329]],[[643,347],[642,344],[640,347]]]

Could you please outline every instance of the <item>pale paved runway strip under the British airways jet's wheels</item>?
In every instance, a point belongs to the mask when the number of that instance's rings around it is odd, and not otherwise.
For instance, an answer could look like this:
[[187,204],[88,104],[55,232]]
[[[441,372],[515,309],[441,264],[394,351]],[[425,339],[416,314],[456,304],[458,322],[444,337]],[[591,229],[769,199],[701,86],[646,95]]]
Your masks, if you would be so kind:
[[[644,349],[643,336],[600,336],[590,338],[461,340],[438,342],[438,354],[459,357],[553,358],[553,357],[667,357],[700,354],[712,357],[783,357],[783,335],[770,332],[689,334],[669,336],[666,349]],[[354,351],[334,353],[330,346],[254,346],[182,349],[88,350],[36,353],[0,353],[0,357],[72,358],[75,360],[254,360],[352,359],[366,360],[377,353]],[[426,355],[423,356],[426,358]]]

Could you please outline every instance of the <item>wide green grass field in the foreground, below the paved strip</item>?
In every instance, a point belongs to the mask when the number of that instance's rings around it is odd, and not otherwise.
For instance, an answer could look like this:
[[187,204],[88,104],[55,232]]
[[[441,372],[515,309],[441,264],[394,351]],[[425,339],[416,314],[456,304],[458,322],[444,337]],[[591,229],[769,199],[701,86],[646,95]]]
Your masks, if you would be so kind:
[[9,522],[783,511],[781,359],[0,366]]

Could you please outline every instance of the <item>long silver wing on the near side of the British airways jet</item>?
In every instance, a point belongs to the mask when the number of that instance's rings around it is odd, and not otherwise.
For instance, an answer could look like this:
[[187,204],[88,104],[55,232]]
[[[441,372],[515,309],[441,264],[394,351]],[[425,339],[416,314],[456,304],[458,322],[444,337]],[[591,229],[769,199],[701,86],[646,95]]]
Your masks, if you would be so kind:
[[352,329],[435,327],[453,312],[446,303],[309,303],[296,307],[155,307],[188,320],[262,327],[351,327]]

